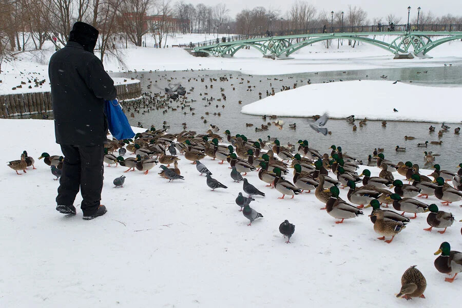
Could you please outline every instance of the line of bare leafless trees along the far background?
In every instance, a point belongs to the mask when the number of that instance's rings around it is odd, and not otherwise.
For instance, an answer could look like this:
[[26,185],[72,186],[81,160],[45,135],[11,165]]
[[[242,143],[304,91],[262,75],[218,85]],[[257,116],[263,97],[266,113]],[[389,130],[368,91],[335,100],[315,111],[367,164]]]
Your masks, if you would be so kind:
[[[144,35],[151,35],[163,47],[171,31],[172,17],[176,18],[176,31],[222,34],[402,22],[402,17],[393,14],[369,20],[367,12],[351,5],[332,14],[300,0],[294,1],[285,12],[255,7],[242,9],[234,17],[224,3],[192,5],[183,0],[0,0],[0,65],[9,56],[25,51],[27,46],[42,49],[46,40],[57,47],[64,46],[76,21],[91,24],[100,31],[97,50],[101,52],[101,60],[106,55],[119,59],[121,45],[142,46]],[[414,12],[413,24],[416,19]],[[434,16],[431,11],[422,10],[419,23],[462,24],[462,16]]]

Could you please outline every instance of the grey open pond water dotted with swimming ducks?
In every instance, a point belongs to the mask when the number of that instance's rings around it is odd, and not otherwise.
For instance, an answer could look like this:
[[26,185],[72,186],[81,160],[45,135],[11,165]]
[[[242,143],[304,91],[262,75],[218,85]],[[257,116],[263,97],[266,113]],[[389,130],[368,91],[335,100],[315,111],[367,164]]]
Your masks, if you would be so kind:
[[[460,136],[454,134],[454,128],[457,124],[451,124],[452,128],[444,136],[438,138],[439,124],[436,132],[429,133],[430,123],[411,123],[388,121],[387,127],[382,127],[380,121],[368,121],[363,127],[359,126],[356,121],[357,131],[352,130],[352,125],[344,120],[330,120],[326,126],[332,131],[332,135],[322,136],[315,133],[306,124],[305,119],[301,118],[283,118],[286,123],[283,130],[277,129],[274,125],[269,127],[268,131],[256,132],[255,128],[260,127],[270,120],[263,122],[260,116],[240,113],[243,105],[255,102],[259,99],[259,93],[262,98],[266,97],[266,91],[271,93],[272,88],[275,92],[284,87],[293,88],[311,83],[322,83],[348,80],[382,80],[381,76],[388,76],[386,80],[400,80],[402,82],[413,82],[421,85],[438,85],[438,86],[462,86],[462,66],[443,66],[433,68],[402,68],[402,69],[370,69],[370,70],[350,70],[350,71],[331,71],[319,73],[299,73],[285,75],[246,75],[239,72],[229,71],[164,71],[164,72],[129,72],[129,73],[112,73],[113,76],[134,77],[141,80],[142,92],[155,93],[161,92],[157,87],[163,88],[168,83],[180,82],[186,90],[194,87],[186,95],[189,107],[181,109],[180,101],[171,102],[169,108],[156,109],[147,103],[132,102],[125,103],[125,112],[127,113],[130,124],[136,126],[141,122],[144,127],[151,124],[156,128],[161,128],[163,121],[170,126],[170,132],[179,132],[183,130],[182,123],[187,124],[188,130],[204,132],[208,129],[209,124],[215,124],[220,127],[221,131],[229,129],[231,133],[245,134],[248,138],[267,138],[267,136],[278,137],[281,143],[296,143],[299,139],[306,139],[310,145],[318,148],[321,152],[329,152],[332,144],[341,145],[344,151],[356,156],[363,161],[367,160],[368,153],[371,153],[376,147],[385,148],[384,155],[391,161],[410,160],[419,165],[424,164],[424,151],[430,150],[441,154],[436,157],[436,162],[448,170],[457,170],[456,165],[462,162],[460,155]],[[220,77],[225,81],[220,81]],[[201,78],[204,82],[201,82]],[[210,81],[212,79],[213,81]],[[217,81],[214,81],[216,79]],[[149,85],[150,88],[149,88]],[[210,85],[213,88],[210,88]],[[206,88],[207,86],[207,88]],[[223,88],[223,91],[221,90]],[[233,89],[234,88],[234,89]],[[207,94],[205,94],[207,93]],[[226,100],[222,99],[222,93],[225,94]],[[201,95],[202,94],[202,95]],[[358,93],[358,95],[361,95]],[[203,99],[214,98],[207,102]],[[221,101],[217,101],[221,99]],[[354,98],[351,98],[354,99]],[[239,104],[241,101],[241,104]],[[209,104],[210,103],[210,104]],[[313,102],[308,98],[307,104],[322,104],[324,102]],[[345,104],[351,103],[345,98]],[[146,104],[146,105],[145,105]],[[134,118],[130,117],[133,112],[133,106],[137,106],[140,111],[134,112]],[[177,109],[173,111],[172,108]],[[152,109],[152,110],[151,110]],[[208,115],[206,114],[208,112]],[[220,112],[221,116],[214,115]],[[195,113],[193,115],[193,113]],[[310,114],[300,114],[310,116]],[[32,117],[41,119],[42,115],[33,115]],[[204,119],[201,119],[204,117]],[[461,118],[462,119],[462,118]],[[204,123],[206,120],[207,123]],[[253,124],[247,126],[246,123]],[[297,128],[288,128],[289,123],[297,123]],[[416,139],[405,141],[404,136],[413,136]],[[417,143],[442,140],[441,145],[429,145],[428,148],[417,147]],[[395,147],[407,147],[406,152],[396,152]]]

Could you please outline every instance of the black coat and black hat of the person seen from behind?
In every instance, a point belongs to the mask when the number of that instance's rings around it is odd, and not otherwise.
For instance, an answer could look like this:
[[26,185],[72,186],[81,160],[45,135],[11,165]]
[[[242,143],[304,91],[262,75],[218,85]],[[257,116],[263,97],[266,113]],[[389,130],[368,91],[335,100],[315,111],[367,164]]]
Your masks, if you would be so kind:
[[76,22],[66,47],[50,59],[56,143],[102,145],[106,143],[104,100],[115,99],[114,82],[93,54],[98,30]]

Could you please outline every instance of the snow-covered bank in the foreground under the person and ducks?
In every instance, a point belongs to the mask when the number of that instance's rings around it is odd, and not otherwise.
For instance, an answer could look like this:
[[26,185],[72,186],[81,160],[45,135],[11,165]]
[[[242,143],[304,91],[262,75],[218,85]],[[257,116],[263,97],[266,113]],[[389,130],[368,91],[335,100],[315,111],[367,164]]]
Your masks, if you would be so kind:
[[[0,134],[8,140],[0,151],[4,163],[23,150],[34,158],[45,151],[61,153],[52,121],[2,119]],[[347,144],[337,145],[348,151]],[[91,221],[82,220],[80,208],[72,217],[55,211],[59,183],[43,161],[35,159],[37,169],[21,176],[4,164],[0,306],[457,306],[462,280],[445,282],[434,268],[433,253],[443,241],[462,249],[461,223],[444,235],[429,233],[422,230],[428,227],[427,215],[419,214],[387,244],[376,239],[370,209],[337,225],[319,210],[322,204],[313,193],[277,199],[279,192],[252,172],[246,178],[266,197],[251,204],[264,218],[247,226],[235,204],[242,183],[233,183],[228,165],[210,158],[202,162],[228,189],[210,191],[183,157],[179,168],[185,180],[172,183],[157,175],[156,166],[148,175],[127,172],[124,187],[113,188],[112,180],[125,168],[105,167],[102,203],[108,213]],[[377,175],[377,168],[368,168]],[[345,197],[347,190],[340,190]],[[79,195],[75,205],[80,201]],[[434,197],[422,201],[439,205]],[[458,205],[439,207],[458,221]],[[278,231],[284,219],[296,225],[292,244],[285,244]],[[426,299],[395,297],[411,265],[427,279]]]

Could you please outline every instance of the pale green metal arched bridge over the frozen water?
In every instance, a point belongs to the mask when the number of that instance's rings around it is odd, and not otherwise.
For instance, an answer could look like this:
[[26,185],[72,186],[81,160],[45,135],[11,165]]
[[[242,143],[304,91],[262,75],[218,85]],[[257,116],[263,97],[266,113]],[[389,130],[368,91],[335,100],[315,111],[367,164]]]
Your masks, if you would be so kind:
[[[254,35],[237,35],[228,37],[227,40],[226,37],[222,37],[221,40],[217,37],[216,40],[197,43],[197,46],[192,46],[192,52],[196,55],[206,53],[213,56],[229,57],[242,48],[252,47],[260,51],[264,57],[288,59],[293,52],[305,46],[338,38],[359,41],[383,48],[394,53],[395,59],[400,57],[412,58],[414,56],[428,57],[427,52],[433,48],[450,41],[462,40],[462,25],[442,26],[432,25],[432,30],[435,29],[433,31],[427,29],[428,27],[425,27],[425,25],[417,27],[397,25],[393,26],[392,29],[390,27],[383,29],[384,26],[349,27],[347,30],[353,30],[349,32],[343,31],[345,27],[332,27],[329,29],[332,30],[331,33],[322,33],[325,32],[324,28],[311,29],[313,32],[320,33],[309,33],[311,32],[309,30],[288,30],[282,31],[285,33],[276,33],[276,35],[269,32]],[[296,33],[292,34],[291,32]],[[383,41],[387,35],[396,37],[391,41]]]

